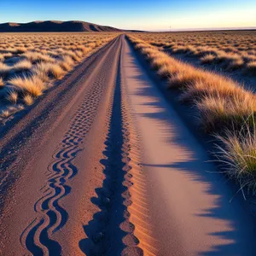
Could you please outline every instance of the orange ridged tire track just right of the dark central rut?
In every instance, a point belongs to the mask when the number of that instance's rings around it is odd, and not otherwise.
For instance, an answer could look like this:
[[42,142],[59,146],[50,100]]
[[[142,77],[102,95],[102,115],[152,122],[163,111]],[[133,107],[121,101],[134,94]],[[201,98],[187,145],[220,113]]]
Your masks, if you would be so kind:
[[[123,65],[125,44],[123,46],[123,54],[121,55],[121,71],[124,70]],[[143,173],[143,154],[142,140],[140,129],[137,125],[137,117],[133,114],[130,94],[127,92],[127,84],[124,79],[125,73],[121,76],[121,95],[122,95],[122,116],[124,123],[125,143],[124,152],[126,166],[129,168],[125,174],[125,183],[127,192],[124,196],[127,205],[126,216],[127,221],[133,225],[132,236],[137,237],[139,243],[137,247],[141,249],[143,255],[159,255],[159,242],[154,234],[154,227],[152,219],[149,214],[148,203],[148,186],[145,174]],[[129,236],[128,236],[129,237]],[[128,238],[127,237],[127,238]],[[125,243],[129,245],[129,239],[124,239]],[[124,255],[137,255],[135,247],[128,246],[124,250]]]

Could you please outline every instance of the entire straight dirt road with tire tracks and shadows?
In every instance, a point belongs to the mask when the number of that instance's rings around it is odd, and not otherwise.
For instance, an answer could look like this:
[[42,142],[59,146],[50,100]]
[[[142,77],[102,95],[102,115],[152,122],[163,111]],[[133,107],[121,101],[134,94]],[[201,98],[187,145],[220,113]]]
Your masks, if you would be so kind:
[[1,255],[255,255],[251,214],[124,35],[1,136]]

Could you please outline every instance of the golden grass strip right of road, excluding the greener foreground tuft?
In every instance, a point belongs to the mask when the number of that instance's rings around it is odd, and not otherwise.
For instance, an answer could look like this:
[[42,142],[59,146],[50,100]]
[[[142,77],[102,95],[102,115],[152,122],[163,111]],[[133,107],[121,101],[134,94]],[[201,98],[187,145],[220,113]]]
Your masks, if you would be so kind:
[[248,114],[256,111],[255,96],[244,90],[241,84],[177,61],[140,39],[131,40],[158,73],[168,77],[170,88],[183,91],[180,97],[183,102],[194,102],[201,115],[201,123],[207,130],[238,123],[239,119],[247,118]]

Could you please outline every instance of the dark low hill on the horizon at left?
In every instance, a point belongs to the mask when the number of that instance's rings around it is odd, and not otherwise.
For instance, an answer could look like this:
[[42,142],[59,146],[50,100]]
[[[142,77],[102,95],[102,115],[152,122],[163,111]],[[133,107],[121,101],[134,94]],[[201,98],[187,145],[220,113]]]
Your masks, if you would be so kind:
[[47,20],[29,23],[2,23],[0,32],[122,32],[122,30],[84,21]]

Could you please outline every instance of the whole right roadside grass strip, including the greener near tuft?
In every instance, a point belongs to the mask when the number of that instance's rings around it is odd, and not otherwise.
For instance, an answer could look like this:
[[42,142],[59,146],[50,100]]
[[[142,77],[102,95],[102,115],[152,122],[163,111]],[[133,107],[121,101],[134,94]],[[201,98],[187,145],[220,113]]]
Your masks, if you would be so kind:
[[201,128],[218,137],[217,158],[226,173],[256,192],[256,96],[231,79],[177,61],[137,36],[129,35],[135,49],[180,91],[180,102],[193,105]]

